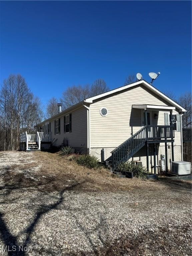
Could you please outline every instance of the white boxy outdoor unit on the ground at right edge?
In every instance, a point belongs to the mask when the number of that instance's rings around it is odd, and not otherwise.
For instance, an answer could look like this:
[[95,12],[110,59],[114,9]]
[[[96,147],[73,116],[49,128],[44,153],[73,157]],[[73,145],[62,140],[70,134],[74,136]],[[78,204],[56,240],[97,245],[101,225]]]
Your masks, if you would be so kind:
[[171,172],[176,175],[187,175],[191,173],[191,163],[176,161],[171,163]]

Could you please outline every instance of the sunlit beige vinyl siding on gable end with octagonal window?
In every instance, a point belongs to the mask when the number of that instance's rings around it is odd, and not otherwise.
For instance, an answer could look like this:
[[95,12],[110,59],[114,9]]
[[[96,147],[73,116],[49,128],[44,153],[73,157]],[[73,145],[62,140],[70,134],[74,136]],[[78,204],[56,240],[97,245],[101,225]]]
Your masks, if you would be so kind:
[[[132,87],[94,102],[90,105],[91,148],[117,147],[131,137],[131,126],[133,134],[141,129],[141,110],[132,109],[133,104],[170,106],[164,99],[144,86]],[[108,115],[105,117],[100,115],[102,107],[108,109]],[[152,124],[165,125],[164,112],[166,111],[152,111]],[[154,113],[158,114],[158,119],[154,119]],[[179,143],[181,133],[175,134]]]

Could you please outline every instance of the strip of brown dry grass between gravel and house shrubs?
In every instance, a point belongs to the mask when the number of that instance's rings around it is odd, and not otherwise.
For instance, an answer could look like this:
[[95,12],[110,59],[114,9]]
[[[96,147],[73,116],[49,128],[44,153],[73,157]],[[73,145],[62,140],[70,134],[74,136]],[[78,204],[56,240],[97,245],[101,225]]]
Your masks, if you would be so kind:
[[74,160],[69,160],[69,157],[60,156],[59,153],[36,151],[34,157],[36,163],[42,165],[38,175],[50,178],[53,185],[59,189],[71,183],[71,180],[83,184],[81,185],[83,191],[158,191],[164,187],[171,188],[172,185],[182,185],[187,188],[191,186],[191,183],[187,181],[172,181],[166,178],[159,181],[118,178],[104,167],[98,170],[88,169],[77,165]]

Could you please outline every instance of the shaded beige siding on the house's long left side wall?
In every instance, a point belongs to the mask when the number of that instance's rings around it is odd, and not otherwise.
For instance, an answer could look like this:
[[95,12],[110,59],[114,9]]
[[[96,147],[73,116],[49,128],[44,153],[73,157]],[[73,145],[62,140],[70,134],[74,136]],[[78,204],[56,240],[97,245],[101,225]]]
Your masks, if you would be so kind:
[[[72,112],[71,128],[72,132],[64,133],[64,116],[60,116],[60,134],[55,135],[55,120],[51,120],[51,140],[56,140],[54,146],[60,146],[64,138],[67,138],[68,144],[74,148],[87,148],[87,109],[80,107]],[[58,119],[58,118],[57,118]]]

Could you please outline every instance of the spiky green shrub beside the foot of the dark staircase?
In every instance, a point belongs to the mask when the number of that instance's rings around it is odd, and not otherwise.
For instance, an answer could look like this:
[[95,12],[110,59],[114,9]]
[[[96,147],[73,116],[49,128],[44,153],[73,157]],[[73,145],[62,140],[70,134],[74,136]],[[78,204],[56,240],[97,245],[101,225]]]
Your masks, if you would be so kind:
[[148,172],[147,169],[144,166],[136,165],[132,161],[123,162],[118,164],[117,166],[117,172],[123,173],[123,172],[133,172],[133,175],[137,178],[146,179]]

